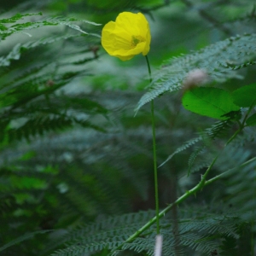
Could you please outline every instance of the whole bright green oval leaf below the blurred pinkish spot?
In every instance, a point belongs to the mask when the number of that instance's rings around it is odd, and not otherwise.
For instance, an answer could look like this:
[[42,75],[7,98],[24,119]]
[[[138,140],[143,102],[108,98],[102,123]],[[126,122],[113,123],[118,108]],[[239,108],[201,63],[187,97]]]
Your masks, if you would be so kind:
[[212,87],[196,87],[188,90],[183,95],[182,101],[183,107],[189,111],[214,119],[229,119],[224,115],[240,110],[228,91]]

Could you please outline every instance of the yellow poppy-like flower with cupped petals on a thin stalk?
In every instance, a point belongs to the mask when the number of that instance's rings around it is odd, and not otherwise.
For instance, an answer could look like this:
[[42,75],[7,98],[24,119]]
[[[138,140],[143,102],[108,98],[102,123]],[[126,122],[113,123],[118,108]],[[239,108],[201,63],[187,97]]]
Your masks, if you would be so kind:
[[148,20],[141,13],[120,13],[115,22],[108,22],[102,29],[103,48],[122,61],[140,53],[147,55],[150,40]]

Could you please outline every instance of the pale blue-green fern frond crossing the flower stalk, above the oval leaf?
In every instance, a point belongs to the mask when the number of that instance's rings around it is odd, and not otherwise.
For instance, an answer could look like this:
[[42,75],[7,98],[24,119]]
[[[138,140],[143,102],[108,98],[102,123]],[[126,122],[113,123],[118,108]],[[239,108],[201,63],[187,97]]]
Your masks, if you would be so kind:
[[165,92],[182,88],[183,80],[189,71],[195,68],[205,70],[210,78],[218,83],[223,83],[228,79],[241,79],[241,75],[230,70],[227,63],[231,62],[234,66],[240,65],[241,61],[253,63],[256,57],[255,39],[255,34],[236,36],[207,46],[190,55],[172,58],[156,75],[157,78],[151,90],[138,102],[137,110]]

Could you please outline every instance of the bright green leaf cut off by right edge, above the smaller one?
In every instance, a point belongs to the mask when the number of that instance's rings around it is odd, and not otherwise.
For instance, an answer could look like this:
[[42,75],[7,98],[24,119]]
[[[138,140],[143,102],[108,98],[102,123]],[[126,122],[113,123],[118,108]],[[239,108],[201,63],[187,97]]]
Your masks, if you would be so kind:
[[232,96],[234,103],[240,107],[249,108],[256,105],[256,83],[248,84],[233,91]]

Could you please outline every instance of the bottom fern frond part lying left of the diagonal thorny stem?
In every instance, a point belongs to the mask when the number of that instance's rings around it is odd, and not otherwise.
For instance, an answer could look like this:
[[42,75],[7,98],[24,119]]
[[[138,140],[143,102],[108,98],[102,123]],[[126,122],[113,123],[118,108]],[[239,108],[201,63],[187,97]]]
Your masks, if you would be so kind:
[[86,224],[77,230],[72,230],[67,235],[61,236],[59,241],[52,241],[47,248],[52,250],[54,247],[69,244],[72,246],[68,247],[67,250],[64,249],[64,251],[60,250],[56,252],[69,253],[69,250],[73,247],[73,243],[81,245],[86,252],[96,251],[98,247],[108,247],[109,249],[118,247],[120,242],[125,241],[130,234],[137,230],[138,225],[144,224],[148,218],[152,218],[153,216],[154,212],[148,211],[130,213],[112,218],[98,218],[95,224]]

